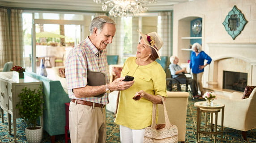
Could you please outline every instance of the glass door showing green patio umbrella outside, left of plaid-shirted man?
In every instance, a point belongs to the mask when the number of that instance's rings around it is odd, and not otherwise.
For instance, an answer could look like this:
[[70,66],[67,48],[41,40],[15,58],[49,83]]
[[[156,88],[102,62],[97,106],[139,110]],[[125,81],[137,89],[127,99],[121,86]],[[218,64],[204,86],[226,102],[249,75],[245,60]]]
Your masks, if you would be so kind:
[[81,25],[35,24],[36,65],[64,66],[69,50],[81,41]]

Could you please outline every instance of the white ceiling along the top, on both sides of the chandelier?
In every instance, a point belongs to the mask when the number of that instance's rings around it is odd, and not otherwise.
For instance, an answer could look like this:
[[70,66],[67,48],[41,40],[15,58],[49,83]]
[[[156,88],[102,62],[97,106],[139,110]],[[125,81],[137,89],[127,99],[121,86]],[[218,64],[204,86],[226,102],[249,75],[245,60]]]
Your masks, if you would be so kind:
[[[145,5],[149,11],[173,10],[173,4],[188,2],[192,0],[157,0],[156,4]],[[0,0],[0,6],[37,8],[37,9],[58,9],[70,11],[98,12],[102,11],[102,4],[96,4],[93,0]]]

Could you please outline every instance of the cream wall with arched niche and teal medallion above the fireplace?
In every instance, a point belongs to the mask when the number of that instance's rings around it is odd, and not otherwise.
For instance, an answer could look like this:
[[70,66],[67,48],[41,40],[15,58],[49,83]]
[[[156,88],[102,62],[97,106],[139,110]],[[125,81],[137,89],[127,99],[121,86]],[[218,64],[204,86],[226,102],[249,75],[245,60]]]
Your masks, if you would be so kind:
[[[243,13],[247,24],[244,26],[243,31],[235,38],[226,32],[222,22],[225,20],[227,14],[236,5],[236,7]],[[173,55],[178,55],[185,62],[186,58],[189,59],[188,54],[180,50],[184,42],[181,42],[180,35],[183,30],[188,30],[188,27],[180,27],[183,18],[186,17],[202,17],[202,49],[211,56],[208,44],[211,43],[228,43],[228,44],[248,44],[256,43],[256,0],[196,0],[187,3],[180,3],[174,5],[173,17]],[[185,25],[183,25],[185,26]],[[190,25],[189,25],[190,26]],[[241,47],[240,50],[243,50]],[[222,53],[222,50],[215,51],[215,53]],[[243,52],[242,52],[243,53]],[[225,53],[229,54],[229,52]],[[246,57],[247,55],[241,55]],[[252,59],[254,61],[254,59]],[[251,62],[252,66],[252,79],[256,77],[256,62]],[[203,84],[211,80],[209,73],[209,66],[205,68]],[[209,79],[210,77],[210,79]],[[253,81],[253,80],[252,80]],[[256,84],[252,82],[252,84]]]

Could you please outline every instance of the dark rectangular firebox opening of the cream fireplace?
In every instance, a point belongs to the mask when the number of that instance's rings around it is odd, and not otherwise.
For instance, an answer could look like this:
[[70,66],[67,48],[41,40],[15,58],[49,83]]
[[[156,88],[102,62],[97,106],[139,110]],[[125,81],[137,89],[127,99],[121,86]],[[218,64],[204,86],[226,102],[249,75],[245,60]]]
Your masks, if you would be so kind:
[[247,85],[247,73],[223,71],[223,88],[243,92]]

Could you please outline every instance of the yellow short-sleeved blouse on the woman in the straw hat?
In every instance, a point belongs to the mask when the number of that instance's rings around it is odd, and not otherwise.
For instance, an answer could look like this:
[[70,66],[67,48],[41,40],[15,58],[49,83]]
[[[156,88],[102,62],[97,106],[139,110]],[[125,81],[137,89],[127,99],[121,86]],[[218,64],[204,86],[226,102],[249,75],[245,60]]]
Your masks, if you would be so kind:
[[152,95],[166,97],[166,73],[156,61],[139,66],[135,62],[136,57],[128,58],[121,76],[133,76],[134,84],[123,91],[120,91],[119,106],[115,123],[127,126],[131,129],[143,129],[152,123],[153,103],[145,98],[134,101],[132,97],[136,92],[144,90]]

